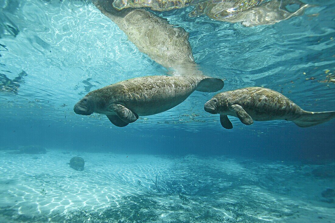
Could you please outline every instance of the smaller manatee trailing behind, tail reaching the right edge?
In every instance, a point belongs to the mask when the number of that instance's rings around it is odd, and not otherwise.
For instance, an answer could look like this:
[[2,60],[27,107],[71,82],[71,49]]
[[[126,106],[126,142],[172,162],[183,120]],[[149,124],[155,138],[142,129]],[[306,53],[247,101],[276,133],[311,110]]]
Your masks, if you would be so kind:
[[247,87],[216,94],[204,105],[205,111],[220,114],[220,123],[232,129],[227,116],[240,119],[245,125],[254,121],[286,120],[299,127],[310,127],[335,117],[335,111],[305,111],[277,91],[262,87]]

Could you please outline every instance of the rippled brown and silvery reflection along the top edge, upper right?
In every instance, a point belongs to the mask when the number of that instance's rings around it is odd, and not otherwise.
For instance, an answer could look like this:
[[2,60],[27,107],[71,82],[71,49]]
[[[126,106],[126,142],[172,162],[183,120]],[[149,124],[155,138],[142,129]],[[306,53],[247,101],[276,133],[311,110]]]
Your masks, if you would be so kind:
[[310,7],[298,0],[116,0],[113,6],[118,10],[147,7],[155,11],[192,6],[190,17],[206,15],[219,21],[242,22],[245,26],[274,24],[302,15]]

